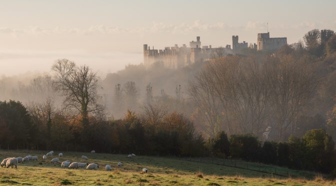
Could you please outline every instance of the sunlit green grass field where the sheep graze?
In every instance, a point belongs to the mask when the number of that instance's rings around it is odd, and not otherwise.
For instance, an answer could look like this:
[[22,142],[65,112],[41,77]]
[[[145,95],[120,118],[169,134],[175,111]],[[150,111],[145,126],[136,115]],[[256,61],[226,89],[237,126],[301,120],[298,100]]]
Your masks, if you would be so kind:
[[[62,169],[51,164],[57,157],[41,160],[46,151],[0,151],[0,159],[37,155],[38,161],[19,163],[15,168],[0,168],[0,184],[21,185],[336,185],[336,181],[312,172],[245,161],[211,158],[170,158],[126,154],[63,152],[60,161],[97,163],[98,170]],[[80,159],[86,155],[88,160]],[[117,166],[121,161],[123,165]],[[106,171],[110,164],[112,171]],[[224,165],[223,165],[224,164]],[[236,167],[234,167],[236,166]],[[145,167],[148,173],[142,174]],[[275,171],[275,172],[274,172]],[[289,176],[289,178],[287,177]]]

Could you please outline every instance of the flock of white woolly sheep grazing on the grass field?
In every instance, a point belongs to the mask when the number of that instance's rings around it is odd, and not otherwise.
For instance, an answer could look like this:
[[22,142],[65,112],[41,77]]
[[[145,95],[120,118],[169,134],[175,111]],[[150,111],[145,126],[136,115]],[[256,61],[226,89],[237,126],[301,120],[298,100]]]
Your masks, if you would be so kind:
[[[94,150],[91,151],[91,153],[95,153]],[[46,153],[46,155],[43,155],[42,158],[44,160],[46,160],[47,156],[51,156],[53,155],[53,150],[49,151],[48,153]],[[63,156],[63,153],[58,153],[58,156],[61,157]],[[127,157],[131,158],[135,156],[134,153],[132,154],[128,154]],[[82,159],[88,159],[86,155],[82,155],[81,156]],[[27,155],[25,157],[7,157],[5,159],[3,159],[1,161],[1,167],[6,167],[8,168],[9,166],[11,166],[11,168],[13,168],[15,166],[15,168],[17,168],[17,164],[18,163],[23,163],[23,162],[26,162],[26,161],[29,161],[29,160],[38,160],[37,156],[31,156],[31,155]],[[59,162],[59,159],[58,158],[52,158],[51,163],[60,163]],[[122,163],[121,162],[118,162],[117,163],[118,166],[121,166]],[[78,168],[85,168],[88,169],[88,170],[97,170],[99,168],[99,165],[96,164],[96,163],[84,163],[84,162],[70,162],[69,160],[66,160],[66,161],[63,161],[61,162],[61,167],[62,168],[72,168],[72,169],[78,169]],[[111,165],[109,164],[106,164],[105,166],[105,169],[107,171],[110,171],[111,170]],[[142,172],[146,173],[148,171],[147,168],[142,168]]]

